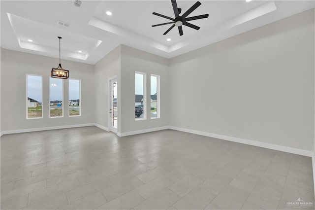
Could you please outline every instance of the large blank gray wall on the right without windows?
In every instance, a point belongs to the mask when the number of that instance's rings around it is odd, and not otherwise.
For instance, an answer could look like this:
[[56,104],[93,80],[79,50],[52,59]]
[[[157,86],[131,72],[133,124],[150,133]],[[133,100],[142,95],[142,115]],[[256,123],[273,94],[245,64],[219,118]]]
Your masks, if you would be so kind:
[[173,58],[170,72],[172,126],[313,148],[313,9]]

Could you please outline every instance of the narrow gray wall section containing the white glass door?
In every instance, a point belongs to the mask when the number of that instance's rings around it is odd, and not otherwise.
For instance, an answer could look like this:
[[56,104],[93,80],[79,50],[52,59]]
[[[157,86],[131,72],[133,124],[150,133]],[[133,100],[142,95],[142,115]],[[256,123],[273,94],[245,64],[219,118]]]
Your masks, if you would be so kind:
[[[120,85],[120,72],[121,72],[121,46],[116,47],[108,55],[95,64],[95,123],[104,126],[108,125],[108,79],[117,75],[117,91],[118,101],[121,99],[121,85]],[[118,132],[121,130],[121,110],[118,107]]]

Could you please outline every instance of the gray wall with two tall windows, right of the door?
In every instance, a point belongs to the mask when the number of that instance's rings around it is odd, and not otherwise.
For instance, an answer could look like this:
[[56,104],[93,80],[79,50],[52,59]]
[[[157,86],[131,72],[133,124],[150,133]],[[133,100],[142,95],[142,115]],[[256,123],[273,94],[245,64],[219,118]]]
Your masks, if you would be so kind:
[[[169,70],[168,59],[153,55],[141,50],[122,45],[121,68],[121,132],[136,131],[149,128],[157,128],[169,125]],[[135,71],[147,74],[147,99],[150,99],[150,74],[160,75],[160,118],[150,119],[150,111],[147,111],[146,120],[135,121],[134,116],[134,78]],[[150,100],[147,100],[150,107]]]

